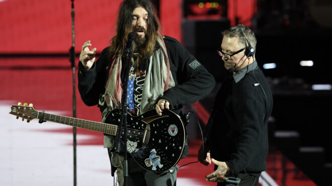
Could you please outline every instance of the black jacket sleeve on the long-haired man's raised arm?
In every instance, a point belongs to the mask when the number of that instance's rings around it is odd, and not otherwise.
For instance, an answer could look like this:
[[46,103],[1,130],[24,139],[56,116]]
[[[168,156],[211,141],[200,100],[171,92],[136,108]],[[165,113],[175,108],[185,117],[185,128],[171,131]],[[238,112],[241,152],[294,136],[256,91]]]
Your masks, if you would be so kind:
[[88,106],[97,105],[99,95],[105,92],[108,62],[108,48],[102,51],[100,58],[89,70],[78,62],[78,91],[82,101]]

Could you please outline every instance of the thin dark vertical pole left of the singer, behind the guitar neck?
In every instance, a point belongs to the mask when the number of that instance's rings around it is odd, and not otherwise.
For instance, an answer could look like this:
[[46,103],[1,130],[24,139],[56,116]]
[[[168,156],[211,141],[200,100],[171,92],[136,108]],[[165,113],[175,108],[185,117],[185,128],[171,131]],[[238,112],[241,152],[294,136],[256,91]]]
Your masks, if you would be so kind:
[[[72,117],[76,117],[76,85],[75,85],[75,25],[74,25],[74,0],[71,1],[71,34],[72,47],[69,49],[70,63],[72,68]],[[74,169],[74,186],[76,186],[76,127],[72,128],[73,134],[73,169]]]

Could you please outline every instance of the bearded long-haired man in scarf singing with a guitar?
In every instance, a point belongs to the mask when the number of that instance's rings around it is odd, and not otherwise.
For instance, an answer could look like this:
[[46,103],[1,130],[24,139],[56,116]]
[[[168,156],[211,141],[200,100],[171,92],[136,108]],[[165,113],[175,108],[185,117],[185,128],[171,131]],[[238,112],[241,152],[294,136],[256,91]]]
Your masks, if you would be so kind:
[[[132,32],[135,33],[135,39],[129,64],[124,60],[126,55],[123,53],[127,36]],[[90,50],[91,46],[90,41],[85,42],[79,56],[78,90],[85,104],[98,104],[103,122],[108,113],[119,107],[124,88],[128,90],[127,111],[131,115],[155,109],[156,115],[161,116],[165,109],[181,115],[183,105],[204,98],[215,84],[213,76],[177,40],[162,36],[155,8],[149,0],[122,2],[117,33],[111,46],[102,51],[97,62],[96,48]],[[127,71],[130,71],[130,75],[126,74]],[[124,85],[127,77],[128,84]],[[176,135],[176,126],[170,126],[168,132]],[[105,134],[104,147],[108,148],[112,175],[116,169],[118,182],[122,185],[124,152],[114,150],[114,138]],[[129,146],[136,145],[134,141],[129,142],[132,142],[127,143]],[[189,152],[187,142],[184,144],[183,149],[180,147],[181,158]],[[145,161],[152,171],[143,169],[128,156],[128,185],[175,185],[178,167],[175,165],[158,172],[164,163],[155,149],[149,153]]]

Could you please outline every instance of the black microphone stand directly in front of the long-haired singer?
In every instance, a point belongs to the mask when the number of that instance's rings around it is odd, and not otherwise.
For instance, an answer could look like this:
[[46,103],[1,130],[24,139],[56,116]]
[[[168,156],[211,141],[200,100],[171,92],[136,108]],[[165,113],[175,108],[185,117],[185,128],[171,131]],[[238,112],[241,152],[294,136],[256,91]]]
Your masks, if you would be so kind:
[[131,67],[131,58],[133,57],[132,51],[130,50],[127,55],[123,55],[124,63],[127,64],[128,68],[126,69],[127,76],[125,77],[125,82],[123,85],[126,87],[123,88],[123,93],[122,93],[122,107],[121,107],[121,117],[120,117],[120,128],[119,128],[119,135],[118,137],[118,144],[116,151],[120,152],[120,144],[121,144],[121,134],[122,134],[122,128],[124,127],[124,167],[123,167],[123,178],[124,178],[124,185],[127,185],[127,180],[128,180],[128,157],[127,157],[127,88],[128,88],[128,78],[130,76],[130,67]]

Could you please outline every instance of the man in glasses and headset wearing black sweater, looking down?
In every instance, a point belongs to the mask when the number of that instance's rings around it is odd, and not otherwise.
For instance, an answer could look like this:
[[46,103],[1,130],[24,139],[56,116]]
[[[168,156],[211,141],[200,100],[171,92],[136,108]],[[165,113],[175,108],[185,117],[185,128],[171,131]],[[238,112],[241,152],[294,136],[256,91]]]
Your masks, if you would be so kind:
[[268,119],[273,98],[255,58],[256,37],[244,25],[222,33],[218,50],[230,75],[215,98],[198,160],[214,172],[207,181],[217,185],[258,185],[266,170]]

